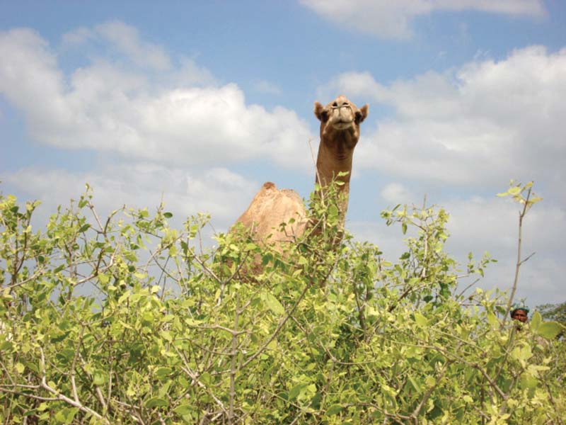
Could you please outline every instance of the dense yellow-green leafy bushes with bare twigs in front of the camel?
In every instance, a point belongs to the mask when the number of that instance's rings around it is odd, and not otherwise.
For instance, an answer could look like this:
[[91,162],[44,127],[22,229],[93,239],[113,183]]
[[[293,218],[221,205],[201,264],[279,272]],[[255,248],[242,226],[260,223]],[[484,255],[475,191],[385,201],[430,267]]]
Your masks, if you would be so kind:
[[561,424],[562,326],[458,293],[444,210],[384,211],[415,229],[387,261],[332,194],[283,254],[242,229],[201,249],[207,217],[173,229],[163,207],[100,220],[90,190],[34,231],[37,203],[1,196],[1,421]]

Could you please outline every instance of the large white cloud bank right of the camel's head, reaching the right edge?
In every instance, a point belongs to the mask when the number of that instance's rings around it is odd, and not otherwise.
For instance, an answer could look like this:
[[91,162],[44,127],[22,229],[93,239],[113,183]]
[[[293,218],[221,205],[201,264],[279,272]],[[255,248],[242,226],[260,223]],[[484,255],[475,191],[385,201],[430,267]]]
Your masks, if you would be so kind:
[[550,53],[533,46],[503,60],[473,61],[388,85],[368,72],[340,74],[319,92],[393,108],[375,131],[362,134],[356,152],[362,169],[464,187],[542,181],[563,201],[565,74],[566,49]]

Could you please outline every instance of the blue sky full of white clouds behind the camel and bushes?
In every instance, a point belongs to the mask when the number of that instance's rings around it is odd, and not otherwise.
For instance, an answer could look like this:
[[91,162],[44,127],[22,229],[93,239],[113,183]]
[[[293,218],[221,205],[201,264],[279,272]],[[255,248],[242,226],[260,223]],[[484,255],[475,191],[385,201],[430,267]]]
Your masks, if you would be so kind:
[[566,300],[562,0],[0,0],[0,191],[47,217],[88,183],[99,211],[163,200],[225,232],[265,181],[308,197],[313,102],[338,94],[369,104],[357,239],[394,260],[381,210],[426,197],[508,290],[519,207],[495,195],[534,181],[516,297]]

